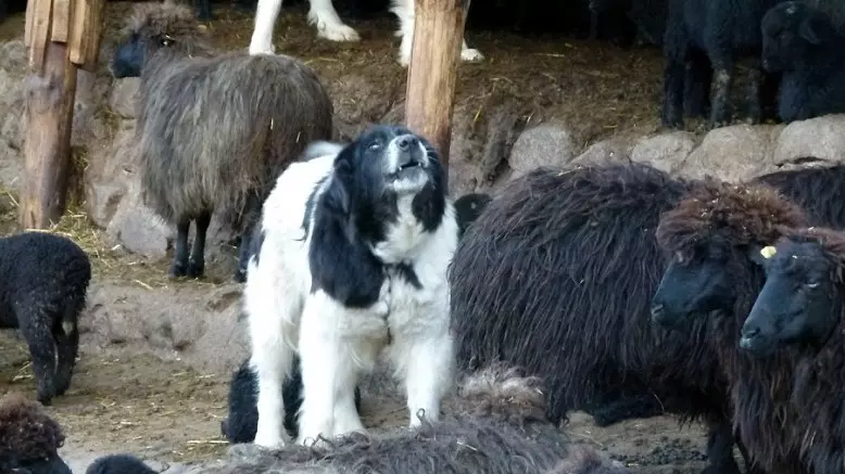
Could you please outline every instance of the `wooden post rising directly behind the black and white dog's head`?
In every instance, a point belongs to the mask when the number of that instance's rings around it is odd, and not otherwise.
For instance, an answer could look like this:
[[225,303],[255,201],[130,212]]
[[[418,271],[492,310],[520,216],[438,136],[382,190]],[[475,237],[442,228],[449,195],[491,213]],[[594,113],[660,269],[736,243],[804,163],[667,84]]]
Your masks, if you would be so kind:
[[469,0],[416,0],[405,123],[437,146],[446,177],[457,66],[468,8]]

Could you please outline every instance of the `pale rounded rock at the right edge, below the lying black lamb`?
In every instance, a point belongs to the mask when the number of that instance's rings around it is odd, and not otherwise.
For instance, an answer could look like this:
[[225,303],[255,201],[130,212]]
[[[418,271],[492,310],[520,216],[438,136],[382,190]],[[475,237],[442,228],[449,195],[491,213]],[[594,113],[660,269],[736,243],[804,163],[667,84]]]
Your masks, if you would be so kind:
[[845,114],[793,121],[781,131],[774,145],[774,164],[803,157],[845,161]]

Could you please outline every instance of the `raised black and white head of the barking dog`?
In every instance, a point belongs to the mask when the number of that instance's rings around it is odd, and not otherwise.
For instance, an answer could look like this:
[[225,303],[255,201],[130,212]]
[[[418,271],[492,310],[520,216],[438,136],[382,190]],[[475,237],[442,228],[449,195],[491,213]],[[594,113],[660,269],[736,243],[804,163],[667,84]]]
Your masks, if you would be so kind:
[[376,125],[335,158],[336,196],[344,214],[404,196],[444,198],[440,156],[424,137],[401,126]]

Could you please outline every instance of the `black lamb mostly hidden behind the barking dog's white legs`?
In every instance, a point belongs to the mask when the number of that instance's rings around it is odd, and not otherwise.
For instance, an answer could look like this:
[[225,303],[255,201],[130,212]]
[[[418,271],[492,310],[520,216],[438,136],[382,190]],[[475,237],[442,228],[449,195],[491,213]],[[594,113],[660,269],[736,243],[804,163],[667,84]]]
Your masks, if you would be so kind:
[[[302,372],[299,356],[293,357],[291,374],[285,380],[281,396],[285,400],[285,430],[295,438],[299,436],[297,418],[302,405]],[[244,360],[231,375],[229,385],[229,415],[220,422],[220,434],[231,444],[252,443],[258,427],[257,403],[258,381]],[[355,409],[361,412],[361,389],[355,388]]]

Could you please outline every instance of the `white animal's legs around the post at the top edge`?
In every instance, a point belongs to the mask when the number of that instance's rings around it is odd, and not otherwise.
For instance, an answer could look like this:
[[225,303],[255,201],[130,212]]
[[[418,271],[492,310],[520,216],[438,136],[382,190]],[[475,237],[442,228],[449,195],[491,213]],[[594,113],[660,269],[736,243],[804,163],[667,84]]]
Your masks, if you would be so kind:
[[[282,0],[258,0],[255,11],[255,28],[250,41],[250,54],[274,54],[273,28],[279,16]],[[317,27],[317,37],[331,41],[357,41],[357,31],[343,23],[331,0],[310,0],[308,24]],[[414,43],[414,0],[393,0],[390,11],[399,17],[396,36],[402,38],[399,63],[407,67]],[[466,40],[461,47],[463,61],[482,61],[484,56],[476,49],[469,49]]]

